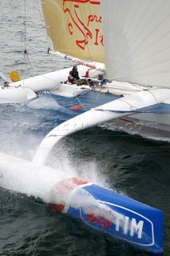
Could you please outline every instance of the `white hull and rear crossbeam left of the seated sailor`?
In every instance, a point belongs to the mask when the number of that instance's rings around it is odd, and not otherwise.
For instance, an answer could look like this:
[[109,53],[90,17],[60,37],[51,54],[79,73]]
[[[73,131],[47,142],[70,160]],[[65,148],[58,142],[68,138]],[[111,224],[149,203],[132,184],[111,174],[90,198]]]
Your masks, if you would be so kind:
[[[68,79],[71,69],[57,70],[18,82],[10,82],[8,86],[0,88],[0,104],[28,102],[37,98],[36,94],[42,91],[49,91],[51,94],[58,94],[64,97],[76,97],[88,91],[89,86],[65,86],[64,82]],[[79,66],[80,77],[83,78],[87,70],[86,66]],[[101,71],[91,70],[92,78],[96,78],[97,74],[100,73]]]

